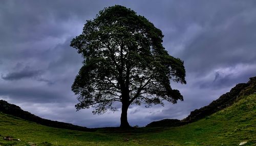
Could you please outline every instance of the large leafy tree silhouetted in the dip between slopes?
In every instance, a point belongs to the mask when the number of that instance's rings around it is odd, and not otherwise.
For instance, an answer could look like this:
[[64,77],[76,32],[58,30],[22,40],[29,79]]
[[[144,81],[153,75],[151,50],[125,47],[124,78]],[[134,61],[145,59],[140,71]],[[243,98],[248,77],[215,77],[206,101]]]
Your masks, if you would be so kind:
[[170,80],[186,83],[183,61],[168,54],[162,38],[153,23],[123,6],[105,8],[87,20],[71,41],[84,58],[72,85],[76,109],[93,107],[94,114],[101,114],[118,110],[113,103],[121,102],[120,127],[126,128],[131,104],[183,100],[170,86]]

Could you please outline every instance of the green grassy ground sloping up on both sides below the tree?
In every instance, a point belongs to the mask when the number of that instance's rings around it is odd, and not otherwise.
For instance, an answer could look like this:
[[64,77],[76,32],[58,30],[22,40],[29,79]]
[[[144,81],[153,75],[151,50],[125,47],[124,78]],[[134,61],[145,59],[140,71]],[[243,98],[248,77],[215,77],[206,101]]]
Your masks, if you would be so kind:
[[0,138],[0,145],[238,145],[242,141],[248,141],[244,145],[256,145],[255,117],[256,94],[241,97],[236,104],[185,126],[138,128],[129,132],[57,129],[0,113],[0,134],[21,139]]

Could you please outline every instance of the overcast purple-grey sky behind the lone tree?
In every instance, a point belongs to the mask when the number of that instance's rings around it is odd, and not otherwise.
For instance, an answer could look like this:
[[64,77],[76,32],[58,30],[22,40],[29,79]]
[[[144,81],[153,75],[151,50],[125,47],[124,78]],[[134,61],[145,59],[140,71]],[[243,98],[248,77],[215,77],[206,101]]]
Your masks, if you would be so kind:
[[[42,118],[86,127],[119,126],[120,111],[76,112],[71,85],[82,57],[70,41],[105,7],[122,5],[164,34],[184,61],[184,101],[131,106],[130,125],[183,119],[256,75],[256,1],[0,1],[0,99]],[[117,104],[117,106],[119,106]]]

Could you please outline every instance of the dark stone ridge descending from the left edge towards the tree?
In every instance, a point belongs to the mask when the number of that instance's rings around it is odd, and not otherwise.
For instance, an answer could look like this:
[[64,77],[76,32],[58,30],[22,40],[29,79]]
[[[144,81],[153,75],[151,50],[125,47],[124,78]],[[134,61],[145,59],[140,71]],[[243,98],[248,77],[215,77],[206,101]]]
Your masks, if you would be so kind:
[[[10,104],[4,100],[0,100],[0,111],[6,114],[11,114],[17,116],[18,118],[28,120],[31,122],[35,122],[41,125],[55,127],[55,128],[63,128],[70,130],[79,130],[79,131],[93,131],[93,129],[87,127],[76,126],[69,123],[63,123],[58,121],[51,121],[47,119],[42,119],[39,116],[36,116],[28,111],[22,110],[19,106]],[[1,114],[1,113],[0,113]]]

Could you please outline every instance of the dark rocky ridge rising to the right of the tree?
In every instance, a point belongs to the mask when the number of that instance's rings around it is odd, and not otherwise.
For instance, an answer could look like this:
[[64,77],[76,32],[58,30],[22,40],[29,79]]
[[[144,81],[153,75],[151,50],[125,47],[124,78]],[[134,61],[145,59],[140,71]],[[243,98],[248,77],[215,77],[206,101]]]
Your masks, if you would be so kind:
[[175,127],[192,123],[232,105],[244,95],[251,94],[256,94],[256,76],[251,77],[247,83],[237,84],[230,90],[230,92],[223,94],[219,99],[212,101],[209,105],[191,111],[187,118],[181,120],[180,122],[172,119],[164,119],[161,121],[152,122],[146,127]]

